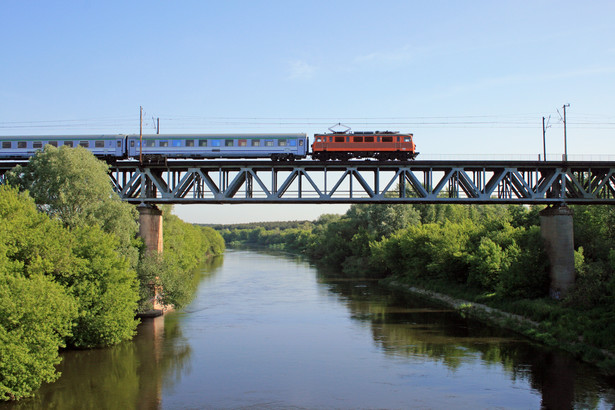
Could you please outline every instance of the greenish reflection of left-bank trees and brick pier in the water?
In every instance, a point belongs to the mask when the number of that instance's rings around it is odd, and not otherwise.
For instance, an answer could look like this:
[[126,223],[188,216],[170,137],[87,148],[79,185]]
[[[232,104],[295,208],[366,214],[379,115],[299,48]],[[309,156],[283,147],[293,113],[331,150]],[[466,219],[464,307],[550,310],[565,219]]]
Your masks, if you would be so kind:
[[[222,262],[217,257],[204,264],[203,280]],[[44,384],[33,398],[0,403],[0,408],[157,409],[162,387],[181,380],[191,353],[178,315],[142,319],[130,342],[106,349],[63,351],[58,381]]]

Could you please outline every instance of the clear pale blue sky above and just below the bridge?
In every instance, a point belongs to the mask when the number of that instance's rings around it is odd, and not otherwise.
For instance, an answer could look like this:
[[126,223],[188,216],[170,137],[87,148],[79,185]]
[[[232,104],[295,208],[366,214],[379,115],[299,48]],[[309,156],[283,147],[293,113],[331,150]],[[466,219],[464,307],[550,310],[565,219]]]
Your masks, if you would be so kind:
[[[412,132],[424,158],[615,158],[613,1],[14,1],[0,134]],[[190,222],[345,206],[192,206]]]

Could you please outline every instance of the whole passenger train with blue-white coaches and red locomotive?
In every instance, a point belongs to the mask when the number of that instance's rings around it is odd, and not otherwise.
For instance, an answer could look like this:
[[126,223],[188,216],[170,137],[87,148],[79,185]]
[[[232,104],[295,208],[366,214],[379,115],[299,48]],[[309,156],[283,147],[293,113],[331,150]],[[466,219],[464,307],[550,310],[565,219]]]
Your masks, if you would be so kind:
[[45,145],[81,146],[107,161],[269,158],[319,161],[356,158],[411,160],[418,152],[413,135],[393,131],[314,134],[309,150],[305,133],[293,134],[118,134],[0,136],[0,160],[28,160]]

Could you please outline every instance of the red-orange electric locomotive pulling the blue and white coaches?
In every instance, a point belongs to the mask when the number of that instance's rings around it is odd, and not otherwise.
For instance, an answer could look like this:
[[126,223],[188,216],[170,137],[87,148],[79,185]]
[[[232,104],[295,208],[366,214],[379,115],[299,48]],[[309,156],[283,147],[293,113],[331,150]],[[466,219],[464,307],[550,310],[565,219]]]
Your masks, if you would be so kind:
[[412,134],[391,131],[333,132],[314,134],[312,158],[317,160],[375,158],[377,160],[414,159],[419,153]]

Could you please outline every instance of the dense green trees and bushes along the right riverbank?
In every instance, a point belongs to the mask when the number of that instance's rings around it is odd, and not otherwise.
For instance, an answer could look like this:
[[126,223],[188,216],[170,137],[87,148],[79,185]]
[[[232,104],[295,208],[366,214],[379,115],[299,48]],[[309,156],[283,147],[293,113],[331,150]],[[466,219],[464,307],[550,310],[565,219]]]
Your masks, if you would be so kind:
[[548,296],[542,208],[363,204],[314,222],[215,228],[230,246],[302,253],[348,276],[465,300],[463,314],[495,308],[506,313],[475,314],[614,373],[615,208],[572,207],[577,279],[563,300]]

